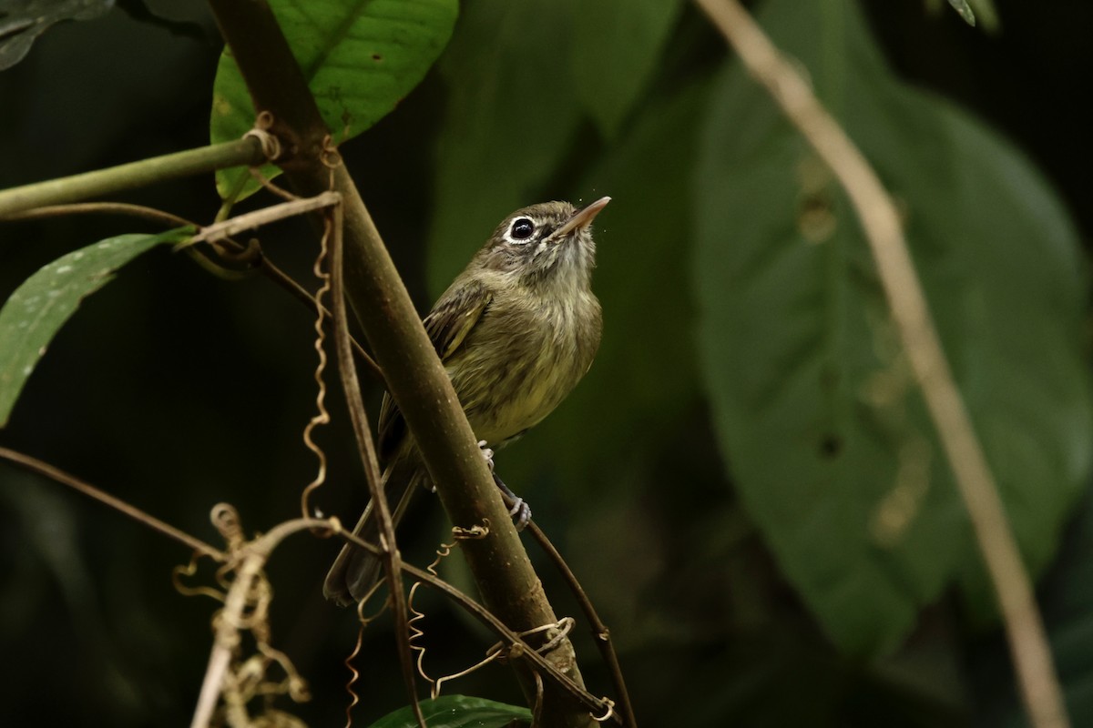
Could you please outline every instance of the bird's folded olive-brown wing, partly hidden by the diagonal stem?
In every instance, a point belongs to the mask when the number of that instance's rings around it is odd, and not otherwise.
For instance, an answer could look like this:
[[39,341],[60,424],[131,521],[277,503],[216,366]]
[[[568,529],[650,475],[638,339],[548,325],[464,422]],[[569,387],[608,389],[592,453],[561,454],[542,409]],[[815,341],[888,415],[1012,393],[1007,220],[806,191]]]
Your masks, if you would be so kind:
[[[447,361],[459,349],[491,300],[493,294],[477,281],[453,286],[440,297],[422,322],[440,361]],[[390,394],[384,395],[379,407],[378,429],[379,461],[390,463],[407,431],[402,413]]]

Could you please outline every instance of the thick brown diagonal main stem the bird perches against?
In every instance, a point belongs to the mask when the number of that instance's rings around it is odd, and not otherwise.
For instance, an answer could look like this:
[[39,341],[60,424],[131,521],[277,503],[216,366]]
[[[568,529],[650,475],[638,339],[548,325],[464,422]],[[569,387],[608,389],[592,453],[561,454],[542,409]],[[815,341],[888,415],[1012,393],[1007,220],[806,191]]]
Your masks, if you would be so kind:
[[[306,145],[327,130],[303,74],[263,0],[210,0],[247,86],[255,108],[286,123]],[[277,129],[277,127],[274,127]],[[280,133],[279,133],[280,135]],[[458,526],[489,522],[486,538],[467,541],[465,551],[486,606],[514,631],[557,621],[536,576],[501,494],[475,444],[451,383],[430,344],[418,312],[384,247],[367,208],[344,166],[322,164],[321,151],[301,151],[286,169],[304,194],[330,187],[344,201],[345,284],[391,396],[421,447],[444,508]],[[551,655],[580,683],[573,646],[566,641]],[[525,690],[533,701],[528,676]],[[544,695],[544,725],[587,725],[587,712],[553,687]]]

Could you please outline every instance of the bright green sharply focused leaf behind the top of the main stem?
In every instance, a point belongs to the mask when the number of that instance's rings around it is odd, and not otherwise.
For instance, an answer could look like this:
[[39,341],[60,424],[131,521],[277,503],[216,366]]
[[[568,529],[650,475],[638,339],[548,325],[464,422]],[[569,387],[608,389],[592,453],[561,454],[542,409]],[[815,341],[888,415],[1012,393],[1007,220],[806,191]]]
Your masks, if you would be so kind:
[[[338,143],[352,139],[391,111],[425,76],[451,36],[457,0],[270,0],[281,29]],[[239,139],[255,121],[255,107],[238,65],[225,48],[213,84],[210,138]],[[263,169],[270,177],[275,167]],[[227,199],[248,176],[216,172]],[[240,199],[258,189],[244,183]]]

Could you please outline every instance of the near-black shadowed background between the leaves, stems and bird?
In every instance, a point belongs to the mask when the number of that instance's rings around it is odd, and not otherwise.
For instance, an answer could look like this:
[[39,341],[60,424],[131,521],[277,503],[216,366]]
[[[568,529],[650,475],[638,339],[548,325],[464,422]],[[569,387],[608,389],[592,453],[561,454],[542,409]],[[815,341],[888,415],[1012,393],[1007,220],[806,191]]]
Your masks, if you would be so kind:
[[[24,61],[0,72],[0,187],[208,143],[210,87],[220,51],[215,28],[200,2],[161,4],[157,12],[196,24],[203,39],[114,10],[95,21],[54,27]],[[1093,111],[1084,97],[1093,68],[1093,7],[1062,0],[996,4],[1002,26],[992,35],[966,26],[948,7],[937,13],[914,0],[871,0],[863,7],[898,73],[974,111],[1030,155],[1088,241],[1093,158],[1085,138]],[[460,32],[457,24],[457,37]],[[658,88],[707,73],[724,55],[722,41],[686,5],[650,84],[650,106]],[[435,204],[436,136],[450,83],[432,72],[391,115],[344,147],[422,310],[437,293],[426,290],[425,241]],[[528,93],[530,100],[514,103],[533,104],[534,89]],[[557,179],[540,190],[542,196],[598,194],[575,190],[574,180],[581,175],[580,144],[604,143],[588,124]],[[156,186],[125,199],[197,220],[211,219],[219,206],[209,178]],[[498,208],[496,218],[507,212]],[[610,212],[601,244],[625,244],[610,236]],[[0,225],[0,290],[7,296],[74,248],[145,229],[152,228],[97,216]],[[466,239],[454,230],[459,238],[454,244],[470,250],[485,234]],[[313,287],[314,238],[306,225],[283,224],[263,232],[262,240],[273,260]],[[608,335],[647,344],[640,332]],[[180,256],[154,251],[89,299],[63,329],[0,443],[211,542],[216,535],[208,514],[220,501],[239,509],[248,530],[268,529],[297,514],[299,490],[315,470],[301,441],[314,410],[312,338],[309,311],[269,282],[215,279]],[[328,375],[328,381],[334,380]],[[379,393],[369,384],[375,411]],[[363,503],[360,467],[339,396],[331,392],[334,423],[318,435],[330,458],[330,478],[318,502],[352,518]],[[736,504],[705,405],[682,406],[679,425],[659,438],[659,450],[643,461],[645,472],[631,479],[636,487],[561,481],[549,468],[529,482],[510,482],[529,498],[537,521],[574,554],[578,575],[618,640],[643,725],[1002,725],[1013,719],[999,631],[965,628],[949,597],[922,614],[895,657],[871,663],[841,657]],[[597,437],[595,422],[589,427],[588,437]],[[512,457],[532,457],[521,455],[531,452],[539,453],[532,462],[564,457],[554,453],[549,438],[534,433],[514,446]],[[500,456],[503,473],[508,456]],[[517,466],[521,473],[527,468]],[[626,474],[615,475],[626,480]],[[684,490],[665,488],[666,482],[687,485]],[[180,596],[172,586],[171,569],[186,561],[186,551],[8,465],[0,465],[0,649],[8,675],[0,688],[0,716],[5,723],[188,721],[218,605]],[[411,528],[431,536],[408,547],[424,560],[428,544],[443,535],[439,509],[427,511],[413,516]],[[718,523],[737,527],[712,532],[704,524],[714,514]],[[1076,545],[1088,541],[1083,528],[1078,524],[1067,536],[1063,561]],[[352,614],[327,605],[319,594],[337,548],[296,536],[269,566],[273,643],[292,657],[314,694],[303,706],[280,706],[314,725],[342,719],[346,672],[341,661],[356,631]],[[210,576],[208,570],[203,575]],[[575,613],[556,580],[544,580],[559,595],[559,613]],[[1043,587],[1049,610],[1051,584],[1049,577]],[[765,612],[763,619],[756,609]],[[356,660],[366,695],[359,725],[404,703],[388,629],[386,618],[369,629],[365,657]],[[437,644],[432,653],[436,673],[473,661],[492,643],[439,604],[430,609],[426,629],[437,643],[450,643]],[[584,635],[578,651],[592,692],[608,692]],[[1081,677],[1068,679],[1080,687]],[[487,668],[454,690],[519,702],[505,668]]]

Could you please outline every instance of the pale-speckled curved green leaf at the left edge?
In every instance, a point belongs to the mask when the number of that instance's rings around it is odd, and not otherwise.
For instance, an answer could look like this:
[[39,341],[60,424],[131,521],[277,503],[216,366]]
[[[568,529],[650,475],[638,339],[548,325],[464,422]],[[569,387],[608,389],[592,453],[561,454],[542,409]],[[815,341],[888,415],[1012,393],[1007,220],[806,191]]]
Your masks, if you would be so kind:
[[145,250],[192,235],[183,228],[160,235],[121,235],[58,258],[23,282],[0,309],[0,427],[49,342],[86,296]]

